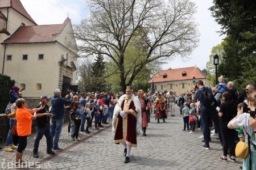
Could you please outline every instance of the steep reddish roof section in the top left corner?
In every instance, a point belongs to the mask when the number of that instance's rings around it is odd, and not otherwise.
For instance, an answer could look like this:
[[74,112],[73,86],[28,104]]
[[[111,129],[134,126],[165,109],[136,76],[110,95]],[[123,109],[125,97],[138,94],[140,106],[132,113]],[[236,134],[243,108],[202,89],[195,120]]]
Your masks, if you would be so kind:
[[[27,13],[22,3],[19,0],[0,0],[0,8],[11,7],[14,8],[19,14],[26,17],[32,23],[36,24],[36,22],[31,18],[31,16]],[[37,25],[37,24],[36,24]]]

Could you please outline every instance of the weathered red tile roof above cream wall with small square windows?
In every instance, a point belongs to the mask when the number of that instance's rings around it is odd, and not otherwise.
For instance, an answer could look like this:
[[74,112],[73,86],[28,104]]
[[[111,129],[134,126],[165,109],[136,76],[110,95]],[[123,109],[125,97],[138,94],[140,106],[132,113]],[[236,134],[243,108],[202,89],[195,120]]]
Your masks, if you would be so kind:
[[53,36],[60,34],[70,19],[65,19],[63,24],[21,26],[19,29],[2,44],[22,44],[37,42],[55,42]]

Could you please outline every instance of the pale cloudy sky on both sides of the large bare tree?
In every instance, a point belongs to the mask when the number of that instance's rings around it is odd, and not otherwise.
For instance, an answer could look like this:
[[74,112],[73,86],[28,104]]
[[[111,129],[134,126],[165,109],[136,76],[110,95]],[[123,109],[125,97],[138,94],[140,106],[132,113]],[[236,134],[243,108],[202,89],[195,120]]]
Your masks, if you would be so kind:
[[[85,0],[20,0],[26,8],[28,14],[39,25],[42,24],[60,24],[69,16],[73,24],[79,24],[81,19],[88,16]],[[174,61],[167,61],[162,69],[166,70],[180,67],[191,67],[197,65],[199,69],[205,69],[209,61],[209,55],[213,46],[220,44],[224,36],[219,36],[220,26],[214,22],[208,8],[212,6],[209,0],[191,0],[196,3],[197,14],[196,22],[199,23],[200,42],[199,46],[191,54],[191,59],[183,62],[180,58]]]

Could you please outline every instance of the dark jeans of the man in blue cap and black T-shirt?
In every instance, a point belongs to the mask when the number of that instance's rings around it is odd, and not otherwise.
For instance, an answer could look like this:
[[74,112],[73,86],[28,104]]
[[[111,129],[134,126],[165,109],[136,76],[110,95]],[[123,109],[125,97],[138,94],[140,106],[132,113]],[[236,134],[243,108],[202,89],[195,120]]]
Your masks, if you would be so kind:
[[47,151],[51,150],[51,130],[50,125],[47,124],[44,128],[36,127],[36,138],[33,152],[38,152],[39,142],[43,136],[46,136]]

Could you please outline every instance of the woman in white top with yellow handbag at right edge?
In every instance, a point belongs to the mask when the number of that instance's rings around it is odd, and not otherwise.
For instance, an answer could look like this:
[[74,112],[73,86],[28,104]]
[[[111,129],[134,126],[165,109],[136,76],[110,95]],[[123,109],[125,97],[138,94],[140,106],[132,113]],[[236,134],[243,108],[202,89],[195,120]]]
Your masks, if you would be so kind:
[[[243,159],[242,169],[256,169],[256,120],[255,120],[255,108],[256,108],[256,92],[251,93],[248,96],[248,105],[250,108],[250,114],[246,112],[243,113],[243,108],[241,111],[238,110],[237,116],[233,118],[228,124],[228,128],[234,129],[240,126],[243,127],[243,132],[245,134],[245,142],[248,143],[249,154],[245,159]],[[236,148],[237,150],[237,148]]]

